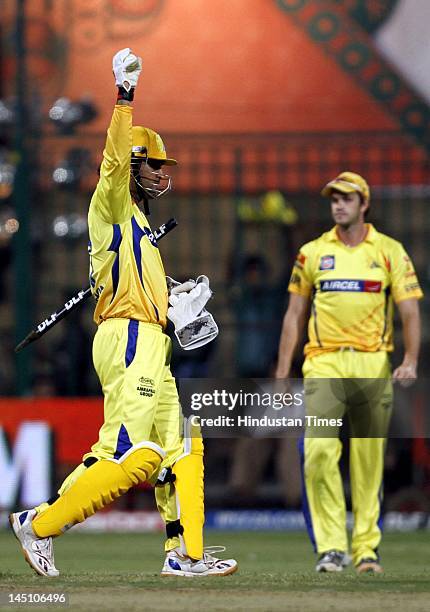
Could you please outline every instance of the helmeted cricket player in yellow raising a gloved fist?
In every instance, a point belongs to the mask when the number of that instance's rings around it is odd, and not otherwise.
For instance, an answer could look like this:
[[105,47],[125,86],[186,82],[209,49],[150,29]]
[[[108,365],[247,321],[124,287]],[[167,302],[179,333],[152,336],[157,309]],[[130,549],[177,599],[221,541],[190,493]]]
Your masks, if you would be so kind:
[[31,567],[58,576],[53,536],[130,487],[158,478],[157,505],[168,538],[162,575],[223,576],[237,563],[203,550],[203,443],[190,432],[181,435],[187,423],[170,372],[171,341],[163,333],[169,316],[186,349],[216,335],[204,309],[209,281],[204,276],[182,284],[169,279],[169,296],[158,245],[140,206],[149,212],[148,200],[170,189],[162,167],[176,161],[167,158],[158,134],[132,126],[141,59],[123,49],[113,58],[113,72],[118,100],[88,214],[98,325],[93,360],[104,394],[104,423],[56,499],[12,514],[10,521]]

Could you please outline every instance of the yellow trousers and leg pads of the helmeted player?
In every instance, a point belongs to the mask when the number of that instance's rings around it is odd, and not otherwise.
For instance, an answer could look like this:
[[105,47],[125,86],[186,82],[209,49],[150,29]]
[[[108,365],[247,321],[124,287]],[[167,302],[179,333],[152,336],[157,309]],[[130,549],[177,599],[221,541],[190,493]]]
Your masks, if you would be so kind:
[[[124,493],[171,467],[174,484],[156,488],[166,523],[180,522],[166,550],[203,556],[203,443],[182,417],[170,372],[170,339],[156,325],[109,319],[99,326],[93,358],[104,393],[98,441],[62,484],[60,498],[42,504],[34,521],[42,537],[60,535]],[[152,454],[151,454],[152,453]],[[158,459],[157,459],[158,458]],[[139,466],[139,462],[141,466]]]

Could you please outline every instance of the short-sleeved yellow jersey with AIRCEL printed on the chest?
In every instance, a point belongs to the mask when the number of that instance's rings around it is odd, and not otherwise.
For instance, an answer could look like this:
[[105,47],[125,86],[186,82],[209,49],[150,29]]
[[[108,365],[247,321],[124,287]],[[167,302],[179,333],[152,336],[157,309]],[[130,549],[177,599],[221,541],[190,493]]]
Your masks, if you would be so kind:
[[355,247],[336,227],[305,244],[288,290],[311,299],[306,356],[342,347],[392,351],[393,301],[423,296],[403,246],[371,224]]

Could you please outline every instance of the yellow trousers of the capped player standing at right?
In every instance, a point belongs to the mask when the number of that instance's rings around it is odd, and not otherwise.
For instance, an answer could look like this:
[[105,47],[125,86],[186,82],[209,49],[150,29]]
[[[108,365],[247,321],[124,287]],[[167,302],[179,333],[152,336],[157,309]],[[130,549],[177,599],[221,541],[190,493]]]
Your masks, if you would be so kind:
[[[385,352],[349,349],[306,359],[306,414],[349,418],[350,480],[355,564],[376,558],[381,540],[384,452],[392,409],[390,365]],[[339,459],[339,428],[309,426],[300,443],[303,509],[316,552],[348,550],[346,506]]]

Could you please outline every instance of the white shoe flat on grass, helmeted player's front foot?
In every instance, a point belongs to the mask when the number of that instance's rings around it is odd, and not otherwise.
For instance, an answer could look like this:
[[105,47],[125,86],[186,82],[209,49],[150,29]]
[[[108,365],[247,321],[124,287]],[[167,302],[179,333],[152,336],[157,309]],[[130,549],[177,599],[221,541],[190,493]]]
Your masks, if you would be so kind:
[[212,553],[224,552],[225,546],[208,546],[204,549],[203,559],[193,561],[184,557],[178,549],[167,553],[162,576],[228,576],[237,570],[235,559],[218,559]]

